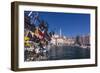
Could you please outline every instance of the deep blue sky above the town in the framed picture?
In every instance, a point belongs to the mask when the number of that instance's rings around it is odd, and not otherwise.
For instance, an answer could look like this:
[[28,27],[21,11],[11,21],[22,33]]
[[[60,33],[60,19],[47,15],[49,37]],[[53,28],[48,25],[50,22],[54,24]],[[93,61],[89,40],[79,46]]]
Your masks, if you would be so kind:
[[[29,13],[24,12],[25,15]],[[49,31],[55,31],[56,34],[59,34],[60,29],[62,35],[69,37],[90,34],[90,14],[38,12],[38,15],[49,24]]]

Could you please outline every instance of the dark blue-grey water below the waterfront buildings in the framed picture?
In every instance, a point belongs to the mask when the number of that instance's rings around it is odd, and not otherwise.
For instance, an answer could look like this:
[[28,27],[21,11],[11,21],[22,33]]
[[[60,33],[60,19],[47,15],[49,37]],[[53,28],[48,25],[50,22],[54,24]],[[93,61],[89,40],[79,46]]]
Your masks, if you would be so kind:
[[90,49],[81,47],[60,46],[49,50],[48,60],[86,59],[90,58]]

